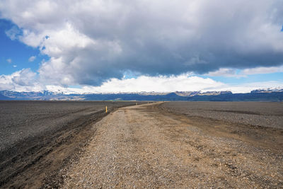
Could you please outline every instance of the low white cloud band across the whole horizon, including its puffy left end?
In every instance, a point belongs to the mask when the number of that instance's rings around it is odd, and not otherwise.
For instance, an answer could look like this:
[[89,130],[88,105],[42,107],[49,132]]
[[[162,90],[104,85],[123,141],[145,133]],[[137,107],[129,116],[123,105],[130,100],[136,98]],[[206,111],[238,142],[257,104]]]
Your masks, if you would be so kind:
[[265,81],[246,84],[225,84],[209,78],[181,74],[178,76],[138,76],[132,79],[109,79],[101,86],[81,86],[81,88],[42,84],[38,74],[30,69],[22,69],[11,75],[0,75],[0,90],[11,91],[54,91],[64,93],[118,93],[118,92],[173,92],[173,91],[232,91],[248,93],[258,88],[283,87],[280,81]]

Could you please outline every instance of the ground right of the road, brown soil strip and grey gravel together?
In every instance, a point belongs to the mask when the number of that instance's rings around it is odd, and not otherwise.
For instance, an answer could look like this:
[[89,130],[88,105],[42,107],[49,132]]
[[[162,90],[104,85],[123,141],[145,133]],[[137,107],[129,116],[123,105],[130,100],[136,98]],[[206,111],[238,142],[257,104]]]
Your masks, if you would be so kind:
[[[254,147],[262,147],[269,151],[282,154],[283,122],[281,122],[282,115],[279,115],[279,105],[283,107],[282,103],[246,102],[200,102],[200,106],[197,107],[195,103],[178,102],[162,103],[149,106],[149,108],[158,110],[163,115],[173,116],[175,120],[185,122],[187,125],[194,125],[214,137],[236,139]],[[245,113],[239,110],[241,106],[245,110]],[[275,120],[270,117],[275,116],[271,115],[272,113],[276,114],[275,110],[272,110],[272,106],[277,106],[278,108],[278,115]],[[233,110],[233,113],[231,113],[231,110]],[[258,117],[255,117],[255,115],[250,116],[251,110],[258,112],[260,117],[267,116],[267,118],[260,118],[262,122],[258,122]],[[269,113],[270,115],[265,115],[265,113]]]

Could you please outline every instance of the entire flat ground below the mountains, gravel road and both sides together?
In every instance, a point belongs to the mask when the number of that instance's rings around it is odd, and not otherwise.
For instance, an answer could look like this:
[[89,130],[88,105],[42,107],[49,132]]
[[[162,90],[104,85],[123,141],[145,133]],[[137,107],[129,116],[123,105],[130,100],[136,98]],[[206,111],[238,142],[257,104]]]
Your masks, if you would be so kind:
[[56,103],[2,105],[1,188],[283,187],[282,103]]

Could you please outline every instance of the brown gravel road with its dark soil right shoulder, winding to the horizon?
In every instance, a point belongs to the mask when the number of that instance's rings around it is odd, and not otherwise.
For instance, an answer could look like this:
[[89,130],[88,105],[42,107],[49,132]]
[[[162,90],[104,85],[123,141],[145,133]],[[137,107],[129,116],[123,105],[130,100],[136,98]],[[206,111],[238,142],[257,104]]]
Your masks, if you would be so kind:
[[62,170],[62,187],[282,188],[282,131],[232,126],[241,132],[158,105],[120,108],[93,125],[79,161]]

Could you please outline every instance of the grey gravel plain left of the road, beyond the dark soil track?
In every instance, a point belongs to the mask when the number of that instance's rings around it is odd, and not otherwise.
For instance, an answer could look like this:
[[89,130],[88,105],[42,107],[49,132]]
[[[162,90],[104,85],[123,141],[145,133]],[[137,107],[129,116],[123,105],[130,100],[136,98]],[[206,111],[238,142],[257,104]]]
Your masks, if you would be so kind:
[[67,122],[104,110],[105,105],[108,110],[118,106],[112,102],[0,101],[0,151],[28,137],[66,127]]

